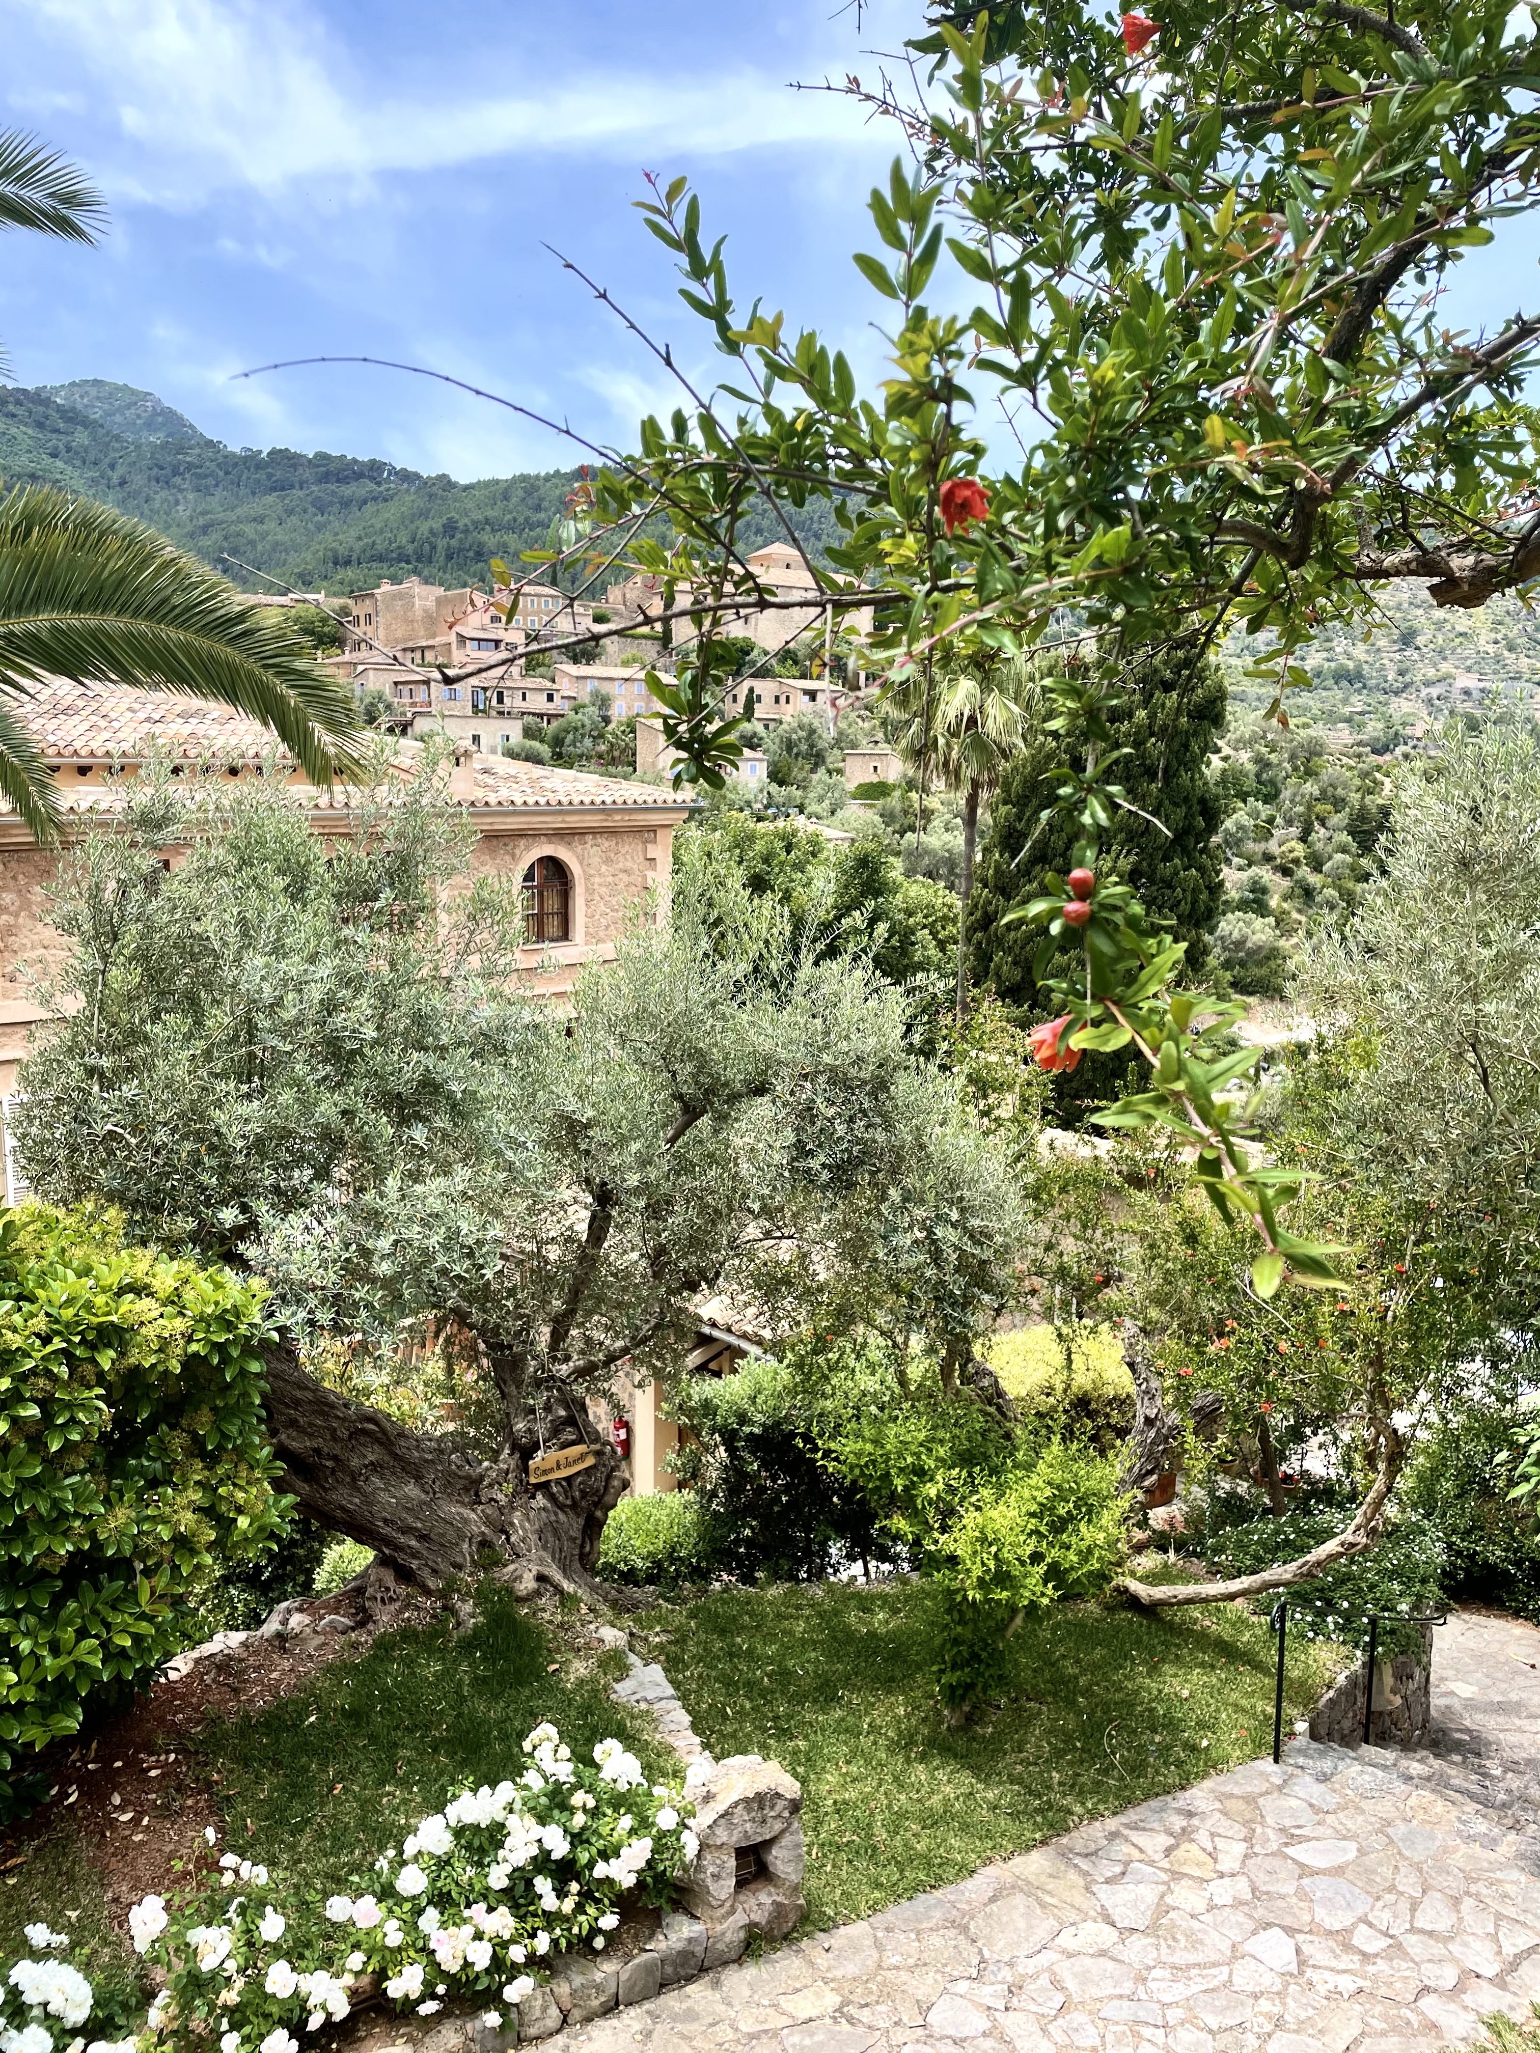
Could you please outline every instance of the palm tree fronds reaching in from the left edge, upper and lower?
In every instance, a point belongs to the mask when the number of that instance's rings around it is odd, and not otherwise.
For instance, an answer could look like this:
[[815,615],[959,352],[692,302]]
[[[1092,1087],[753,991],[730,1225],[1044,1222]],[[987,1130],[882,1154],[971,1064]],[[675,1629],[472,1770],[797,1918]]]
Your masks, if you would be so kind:
[[[0,228],[94,242],[103,203],[35,138],[0,131]],[[25,702],[47,677],[214,698],[261,721],[318,784],[361,764],[351,692],[308,647],[152,528],[51,487],[0,499],[0,797],[57,838]]]

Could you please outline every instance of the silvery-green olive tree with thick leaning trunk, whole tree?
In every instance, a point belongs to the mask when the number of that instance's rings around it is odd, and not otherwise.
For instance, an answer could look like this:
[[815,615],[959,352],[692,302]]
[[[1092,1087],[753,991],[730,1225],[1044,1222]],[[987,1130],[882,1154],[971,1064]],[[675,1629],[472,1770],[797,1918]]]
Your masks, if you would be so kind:
[[[955,1287],[895,1263],[862,1312],[938,1349],[988,1320],[1008,1178],[858,957],[819,961],[743,893],[731,944],[721,903],[639,916],[559,1012],[517,996],[517,901],[468,887],[431,786],[329,840],[281,790],[154,788],[88,838],[21,1123],[45,1195],[269,1281],[267,1425],[310,1517],[429,1587],[497,1564],[585,1587],[620,1460],[540,1484],[530,1462],[593,1443],[622,1363],[667,1376],[700,1295],[791,1330],[965,1187],[971,1230],[932,1234]],[[462,1353],[454,1431],[316,1373],[423,1341]]]

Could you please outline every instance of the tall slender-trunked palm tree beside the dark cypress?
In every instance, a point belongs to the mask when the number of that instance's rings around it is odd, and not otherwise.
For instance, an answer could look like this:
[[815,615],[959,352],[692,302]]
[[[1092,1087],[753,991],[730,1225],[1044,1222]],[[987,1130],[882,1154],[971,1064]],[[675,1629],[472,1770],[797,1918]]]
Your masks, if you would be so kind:
[[957,1024],[967,1020],[967,903],[973,897],[973,856],[979,801],[996,788],[1027,739],[1037,688],[1031,665],[992,649],[965,649],[916,673],[889,698],[893,745],[924,778],[934,770],[963,795],[963,887],[957,918]]

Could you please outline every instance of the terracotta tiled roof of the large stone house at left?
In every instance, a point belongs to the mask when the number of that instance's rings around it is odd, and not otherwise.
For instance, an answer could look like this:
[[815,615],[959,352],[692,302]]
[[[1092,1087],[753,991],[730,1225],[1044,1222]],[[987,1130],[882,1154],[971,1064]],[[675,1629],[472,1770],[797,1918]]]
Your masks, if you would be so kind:
[[[172,762],[214,766],[257,766],[277,760],[283,774],[290,758],[275,737],[257,721],[228,706],[201,698],[179,698],[170,692],[133,692],[117,684],[47,682],[21,704],[21,714],[37,735],[51,762],[113,764],[142,762],[158,749]],[[409,776],[425,756],[421,741],[400,741],[392,768]],[[470,756],[470,795],[456,792],[462,805],[487,811],[657,811],[682,815],[690,801],[678,799],[667,786],[634,784],[624,778],[587,776],[581,770],[552,770],[544,764],[513,762],[505,756]],[[460,782],[464,772],[456,774]],[[68,813],[113,811],[123,805],[131,780],[80,782],[72,774],[60,778],[60,801]],[[357,805],[357,788],[337,784],[312,790],[292,784],[316,811],[349,811]],[[6,807],[0,807],[4,817]]]

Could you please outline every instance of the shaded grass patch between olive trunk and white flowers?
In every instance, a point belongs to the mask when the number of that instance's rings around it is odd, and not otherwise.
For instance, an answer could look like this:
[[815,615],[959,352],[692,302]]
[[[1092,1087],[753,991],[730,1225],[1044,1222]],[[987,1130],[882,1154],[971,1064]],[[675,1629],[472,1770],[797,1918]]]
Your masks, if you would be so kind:
[[524,1772],[524,1735],[559,1727],[575,1755],[614,1735],[655,1780],[680,1780],[651,1720],[610,1700],[620,1655],[548,1630],[507,1597],[483,1599],[470,1632],[384,1634],[320,1669],[296,1696],[199,1735],[230,1846],[308,1885],[339,1885],[462,1786]]

